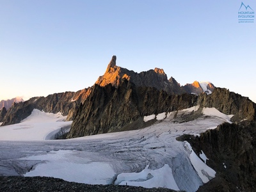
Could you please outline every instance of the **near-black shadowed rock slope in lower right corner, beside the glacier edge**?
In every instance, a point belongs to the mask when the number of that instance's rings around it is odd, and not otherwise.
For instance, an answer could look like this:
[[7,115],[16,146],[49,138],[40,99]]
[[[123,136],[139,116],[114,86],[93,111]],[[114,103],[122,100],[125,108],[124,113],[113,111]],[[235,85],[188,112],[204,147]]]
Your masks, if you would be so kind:
[[188,140],[197,154],[203,150],[207,164],[217,172],[198,191],[256,191],[255,129],[256,122],[225,123]]

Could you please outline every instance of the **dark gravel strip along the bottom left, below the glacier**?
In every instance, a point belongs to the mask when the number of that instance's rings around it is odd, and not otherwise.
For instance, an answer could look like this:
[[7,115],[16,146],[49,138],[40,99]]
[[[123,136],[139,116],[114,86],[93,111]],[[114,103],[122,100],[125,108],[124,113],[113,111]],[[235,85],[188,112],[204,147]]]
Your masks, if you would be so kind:
[[0,177],[1,192],[68,191],[68,192],[174,192],[166,188],[142,188],[135,186],[92,185],[53,177]]

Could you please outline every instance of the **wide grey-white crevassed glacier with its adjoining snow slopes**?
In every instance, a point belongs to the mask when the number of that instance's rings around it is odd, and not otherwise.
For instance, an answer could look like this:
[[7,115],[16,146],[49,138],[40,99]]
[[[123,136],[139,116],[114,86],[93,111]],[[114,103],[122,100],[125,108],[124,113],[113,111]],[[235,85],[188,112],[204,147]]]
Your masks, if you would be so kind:
[[[199,134],[229,120],[220,111],[205,108],[206,118],[175,122],[175,116],[196,110],[198,107],[152,115],[150,118],[158,121],[145,129],[51,141],[45,141],[45,136],[70,122],[63,122],[61,115],[35,110],[22,123],[0,128],[0,140],[8,137],[17,140],[0,141],[0,175],[24,173],[26,177],[58,177],[88,184],[196,191],[212,179],[215,172],[196,156],[188,142],[176,138],[182,134]],[[31,141],[35,138],[42,141]],[[20,143],[19,140],[27,141]]]

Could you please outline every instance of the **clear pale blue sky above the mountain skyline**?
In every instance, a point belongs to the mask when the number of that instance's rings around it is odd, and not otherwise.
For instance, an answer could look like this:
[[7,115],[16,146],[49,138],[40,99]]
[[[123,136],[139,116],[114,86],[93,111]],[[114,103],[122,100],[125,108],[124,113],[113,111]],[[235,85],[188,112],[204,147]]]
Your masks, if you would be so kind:
[[[256,15],[256,1],[243,1]],[[210,81],[256,102],[256,20],[242,1],[0,0],[0,100],[92,86],[113,55],[180,85]]]

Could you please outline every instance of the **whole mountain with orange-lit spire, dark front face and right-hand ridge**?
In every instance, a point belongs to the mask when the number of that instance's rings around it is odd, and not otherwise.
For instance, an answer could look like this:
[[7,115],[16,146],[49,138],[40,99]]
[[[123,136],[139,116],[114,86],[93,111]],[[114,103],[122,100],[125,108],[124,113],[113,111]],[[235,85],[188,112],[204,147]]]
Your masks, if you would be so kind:
[[[158,78],[157,83],[152,81],[153,76]],[[199,96],[188,93],[177,95],[172,88],[180,88],[179,83],[172,77],[169,84],[166,81],[163,70],[155,69],[138,74],[117,67],[116,56],[113,56],[104,76],[99,77],[88,100],[78,109],[68,138],[124,131],[132,126],[137,129],[143,127],[142,119],[145,115],[168,113],[196,105],[234,115],[232,120],[237,122],[255,120],[256,106],[246,97],[225,88],[213,89],[213,84],[202,85],[197,81],[187,87],[195,87],[196,93],[201,93]],[[163,84],[166,86],[161,86]],[[212,90],[212,93],[207,95],[205,90]]]

